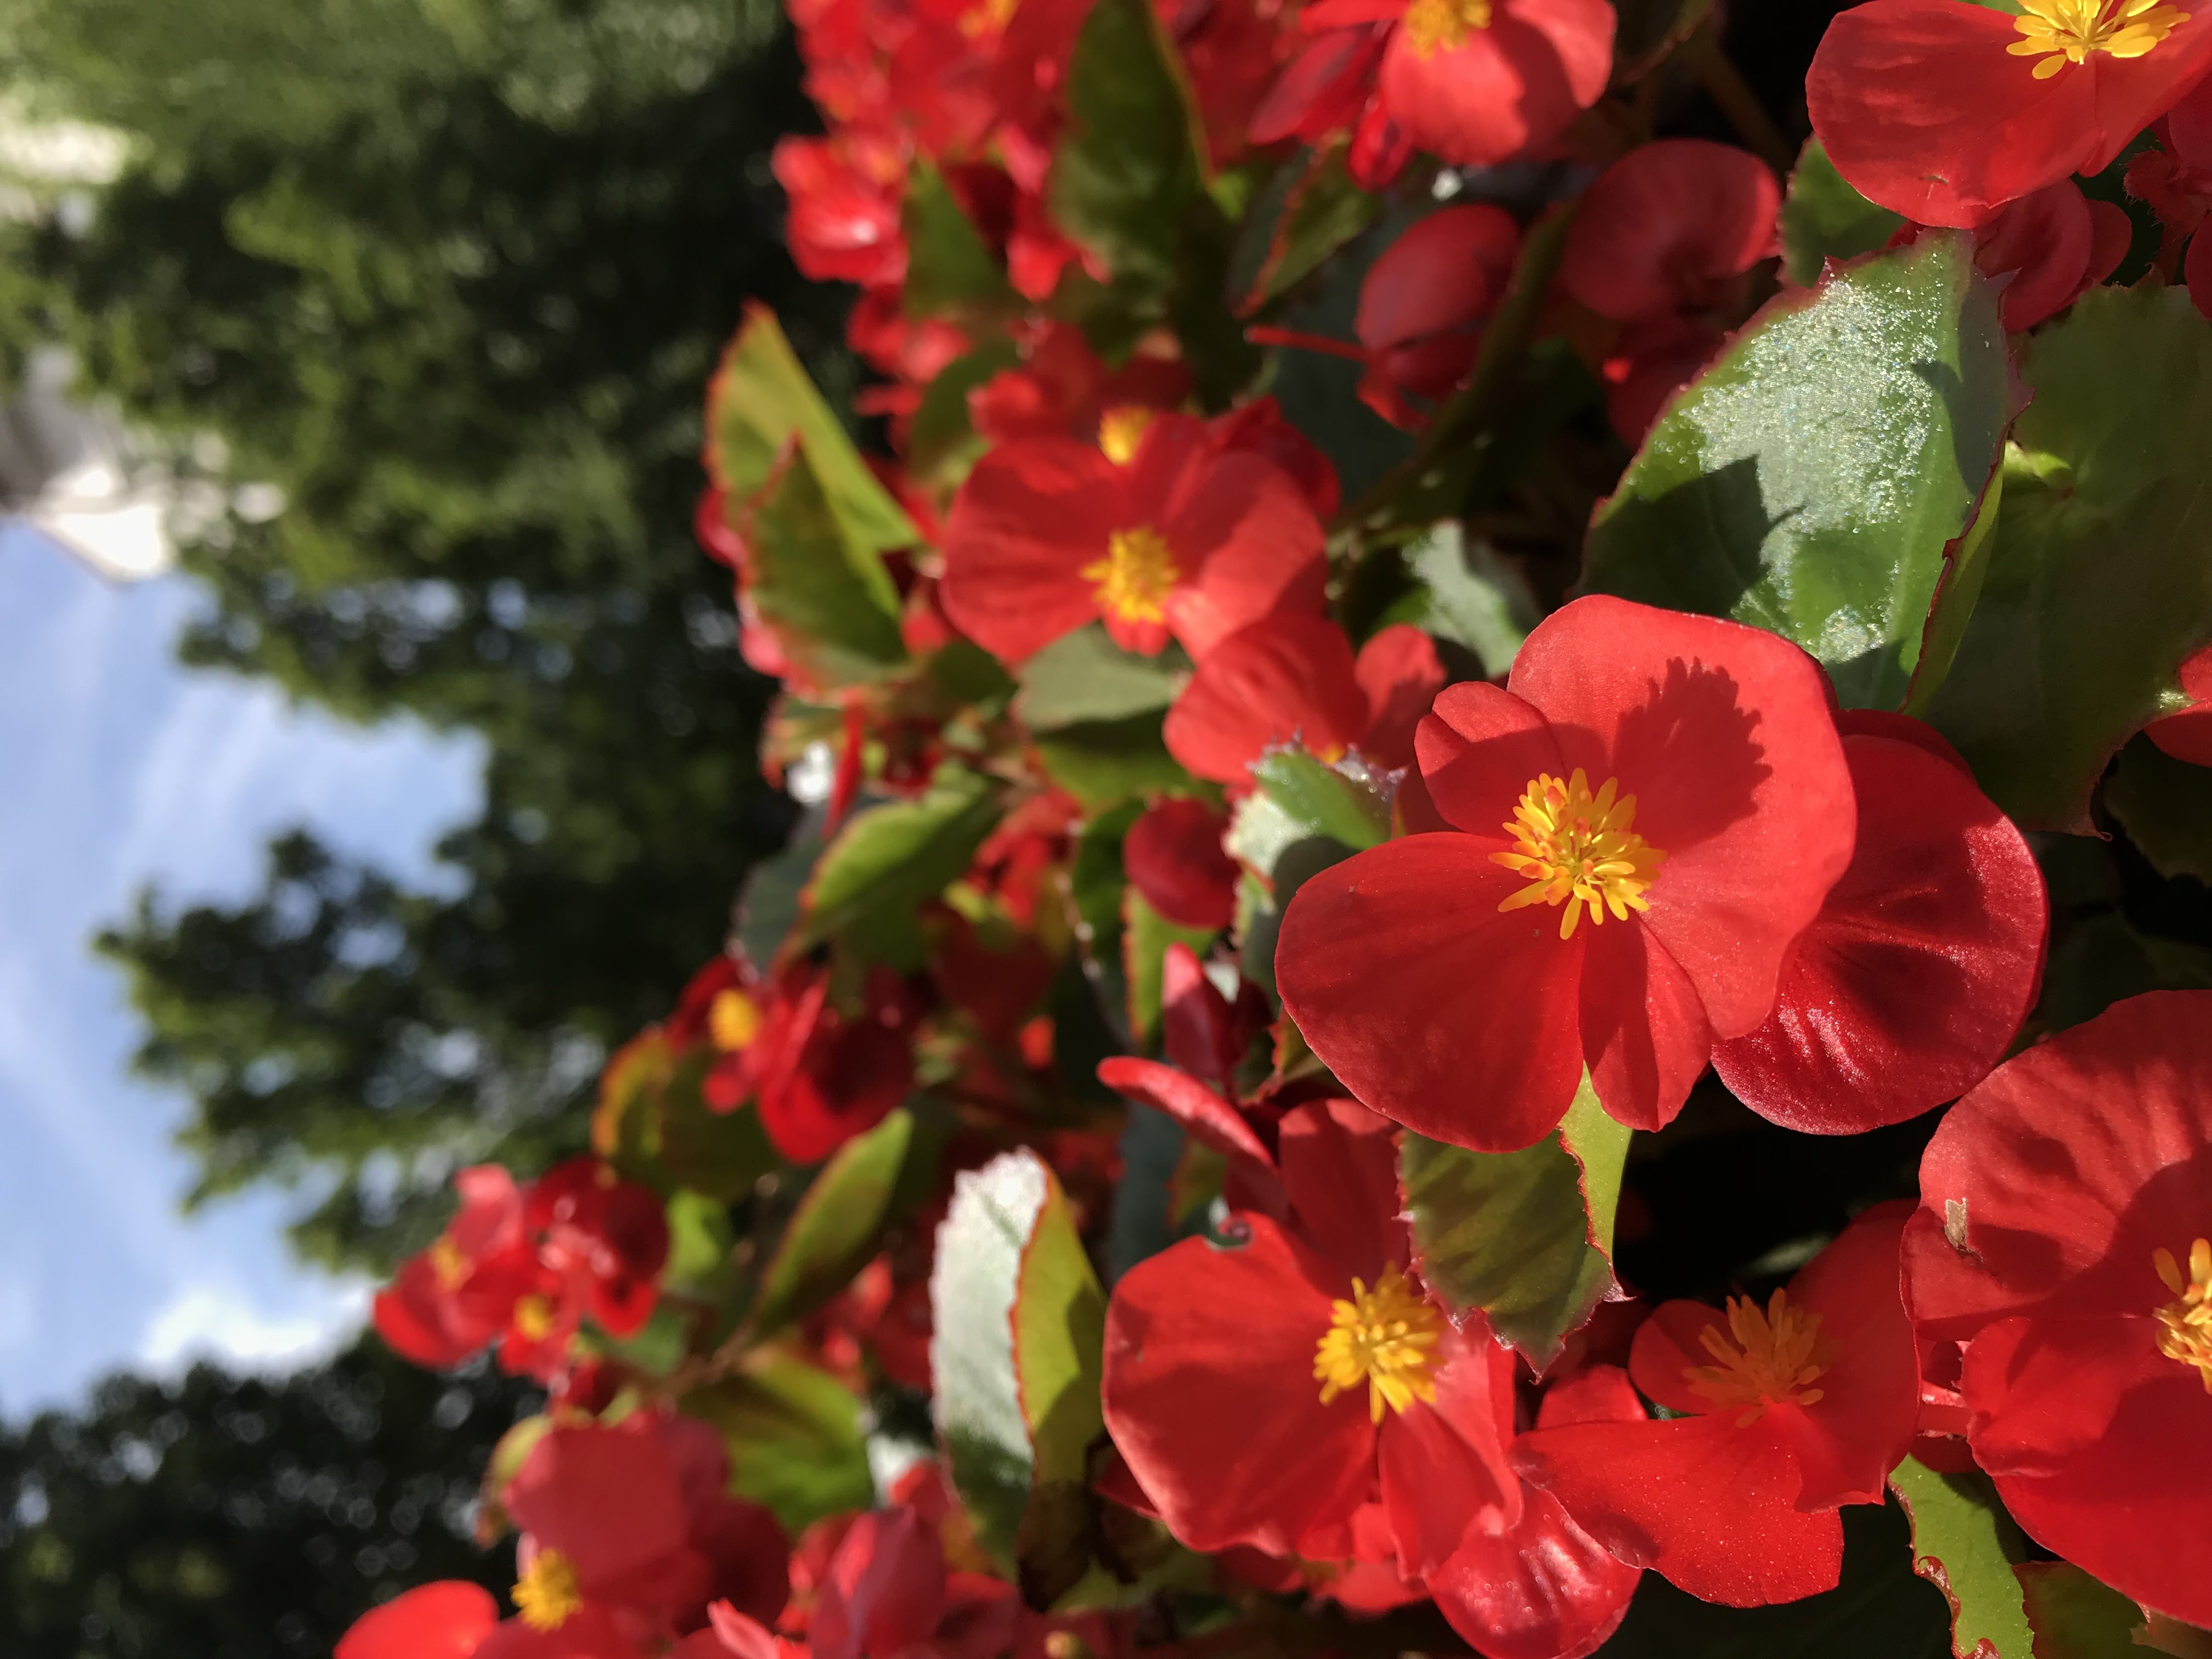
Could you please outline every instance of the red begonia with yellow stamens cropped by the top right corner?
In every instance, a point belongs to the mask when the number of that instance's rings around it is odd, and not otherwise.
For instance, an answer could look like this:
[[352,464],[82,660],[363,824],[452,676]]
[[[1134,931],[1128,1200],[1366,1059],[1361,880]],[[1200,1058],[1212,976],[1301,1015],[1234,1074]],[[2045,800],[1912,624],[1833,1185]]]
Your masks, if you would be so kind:
[[2212,66],[2212,24],[2170,4],[1869,0],[1805,77],[1812,128],[1869,201],[1973,228],[2073,173],[2101,173]]

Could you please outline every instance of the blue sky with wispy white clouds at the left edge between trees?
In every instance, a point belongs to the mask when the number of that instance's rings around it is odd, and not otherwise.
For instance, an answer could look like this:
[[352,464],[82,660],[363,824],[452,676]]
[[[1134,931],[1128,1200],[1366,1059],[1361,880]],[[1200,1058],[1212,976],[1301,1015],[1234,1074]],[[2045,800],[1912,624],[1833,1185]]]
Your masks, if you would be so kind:
[[243,898],[307,825],[427,880],[476,814],[480,750],[186,672],[181,577],[108,586],[0,529],[0,1413],[197,1354],[288,1365],[358,1325],[361,1283],[292,1265],[274,1194],[184,1219],[184,1104],[128,1077],[137,1031],[93,931],[148,880]]

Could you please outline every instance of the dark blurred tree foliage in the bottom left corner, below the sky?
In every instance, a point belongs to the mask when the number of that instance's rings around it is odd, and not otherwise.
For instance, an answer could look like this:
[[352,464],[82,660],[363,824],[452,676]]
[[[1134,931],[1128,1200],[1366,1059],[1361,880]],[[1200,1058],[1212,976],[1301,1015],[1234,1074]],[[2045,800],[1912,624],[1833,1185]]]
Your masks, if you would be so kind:
[[414,1584],[504,1590],[513,1546],[476,1546],[476,1471],[533,1400],[363,1338],[283,1383],[113,1378],[82,1413],[0,1427],[0,1652],[327,1655]]

